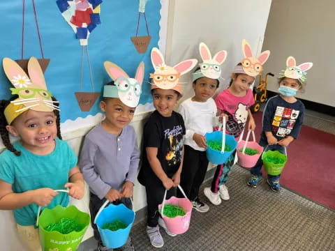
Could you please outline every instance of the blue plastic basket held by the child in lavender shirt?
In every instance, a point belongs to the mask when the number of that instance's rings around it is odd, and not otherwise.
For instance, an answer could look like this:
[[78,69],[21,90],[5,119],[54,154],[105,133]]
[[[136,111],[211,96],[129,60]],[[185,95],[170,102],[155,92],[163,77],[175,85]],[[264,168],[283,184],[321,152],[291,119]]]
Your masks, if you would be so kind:
[[[124,222],[127,227],[117,231],[102,229],[106,222],[113,222],[116,219]],[[103,245],[107,248],[120,248],[123,246],[128,240],[134,220],[134,211],[124,206],[124,204],[119,204],[117,206],[110,204],[106,208],[103,208],[103,211],[101,211],[96,218],[96,226],[98,227]]]

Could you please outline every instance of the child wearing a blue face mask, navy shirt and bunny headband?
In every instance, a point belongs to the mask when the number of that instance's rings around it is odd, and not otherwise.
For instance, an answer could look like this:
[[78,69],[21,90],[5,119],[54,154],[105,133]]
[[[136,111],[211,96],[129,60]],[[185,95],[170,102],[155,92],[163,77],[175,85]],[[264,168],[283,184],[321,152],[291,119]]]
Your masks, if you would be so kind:
[[[297,139],[304,119],[304,104],[295,98],[297,91],[304,89],[306,70],[313,63],[301,63],[296,66],[295,58],[289,56],[286,60],[286,69],[279,76],[279,95],[269,98],[263,111],[262,133],[260,145],[266,150],[277,150],[285,154],[287,147]],[[262,178],[262,158],[258,159],[255,167],[251,168],[251,178],[248,185],[255,188]],[[268,175],[267,183],[274,192],[281,190],[279,177]]]

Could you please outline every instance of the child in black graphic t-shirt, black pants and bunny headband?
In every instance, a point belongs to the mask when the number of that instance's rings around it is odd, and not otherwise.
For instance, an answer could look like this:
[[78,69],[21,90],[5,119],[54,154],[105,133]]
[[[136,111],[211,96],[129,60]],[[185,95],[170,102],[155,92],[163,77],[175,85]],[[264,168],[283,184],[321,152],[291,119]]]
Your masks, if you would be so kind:
[[155,72],[151,74],[151,93],[156,110],[144,126],[143,162],[138,181],[145,186],[147,193],[147,234],[151,245],[161,248],[164,245],[158,224],[170,233],[159,217],[158,204],[163,201],[165,189],[167,199],[175,195],[171,189],[180,183],[183,164],[184,120],[174,112],[174,106],[181,97],[180,75],[187,73],[197,63],[196,59],[183,61],[177,66],[166,66],[163,55],[157,48],[151,51],[151,61]]

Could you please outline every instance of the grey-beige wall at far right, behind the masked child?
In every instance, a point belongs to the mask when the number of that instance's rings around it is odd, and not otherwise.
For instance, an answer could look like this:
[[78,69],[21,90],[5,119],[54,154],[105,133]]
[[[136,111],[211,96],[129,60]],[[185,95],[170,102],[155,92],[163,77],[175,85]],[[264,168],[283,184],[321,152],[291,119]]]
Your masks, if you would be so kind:
[[[313,62],[307,71],[306,92],[298,98],[335,106],[334,0],[272,1],[263,49],[271,50],[265,72],[281,73],[288,56],[297,63]],[[276,91],[276,78],[268,89]]]

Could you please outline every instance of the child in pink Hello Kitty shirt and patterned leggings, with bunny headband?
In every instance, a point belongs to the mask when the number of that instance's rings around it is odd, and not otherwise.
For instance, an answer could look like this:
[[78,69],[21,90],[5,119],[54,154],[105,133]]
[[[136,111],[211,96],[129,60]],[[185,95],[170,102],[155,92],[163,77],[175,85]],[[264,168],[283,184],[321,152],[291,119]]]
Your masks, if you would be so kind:
[[[226,133],[234,135],[236,139],[244,130],[248,117],[248,130],[255,130],[255,121],[249,109],[255,103],[250,86],[262,71],[262,64],[267,61],[270,54],[269,51],[265,51],[255,58],[246,40],[242,41],[242,51],[244,59],[235,66],[229,88],[218,94],[215,99],[221,114],[225,114],[227,118]],[[214,205],[221,204],[221,199],[230,199],[225,183],[234,165],[234,155],[233,153],[224,164],[216,167],[211,188],[204,188],[204,195]]]

